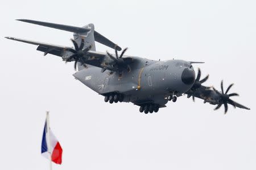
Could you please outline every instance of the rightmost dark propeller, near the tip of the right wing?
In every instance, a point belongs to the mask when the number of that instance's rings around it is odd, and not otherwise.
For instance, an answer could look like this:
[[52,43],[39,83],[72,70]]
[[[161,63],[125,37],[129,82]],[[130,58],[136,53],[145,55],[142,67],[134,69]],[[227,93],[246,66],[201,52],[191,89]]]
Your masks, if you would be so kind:
[[213,90],[216,92],[216,94],[218,94],[220,96],[220,100],[218,100],[218,105],[216,108],[214,108],[214,111],[219,109],[222,104],[224,104],[224,107],[225,107],[225,114],[226,114],[226,112],[228,112],[228,104],[231,104],[231,105],[233,105],[234,108],[236,108],[236,104],[234,103],[233,100],[229,99],[229,97],[239,96],[239,95],[237,93],[228,94],[230,88],[233,85],[234,84],[230,84],[229,87],[226,89],[225,93],[224,93],[224,89],[223,89],[223,80],[221,81],[221,93],[213,87]]

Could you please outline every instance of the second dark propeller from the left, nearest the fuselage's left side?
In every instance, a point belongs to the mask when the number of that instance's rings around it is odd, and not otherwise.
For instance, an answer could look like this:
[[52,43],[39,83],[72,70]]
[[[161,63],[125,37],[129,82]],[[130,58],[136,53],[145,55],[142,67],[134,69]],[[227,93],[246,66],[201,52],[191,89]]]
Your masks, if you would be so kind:
[[113,62],[108,63],[108,65],[112,65],[112,67],[117,67],[119,74],[122,74],[123,69],[126,69],[128,72],[131,71],[131,67],[129,66],[129,64],[133,62],[133,58],[131,57],[122,58],[123,54],[125,54],[127,49],[128,48],[123,49],[121,55],[118,56],[117,45],[115,45],[115,57],[109,52],[106,52],[108,56],[111,59],[113,59]]

